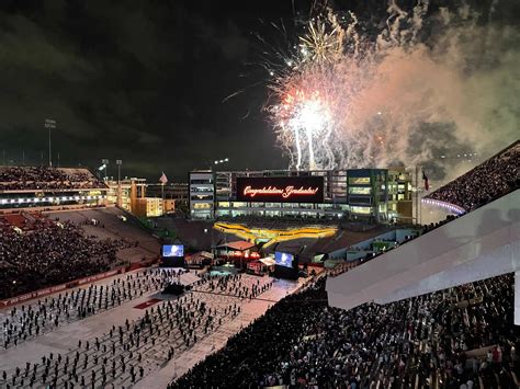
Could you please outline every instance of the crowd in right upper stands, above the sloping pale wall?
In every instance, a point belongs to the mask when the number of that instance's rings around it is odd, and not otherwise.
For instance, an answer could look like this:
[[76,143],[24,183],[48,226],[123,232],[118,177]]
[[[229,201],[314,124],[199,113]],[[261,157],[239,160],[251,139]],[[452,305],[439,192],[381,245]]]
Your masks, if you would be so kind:
[[519,186],[520,142],[517,141],[426,198],[450,203],[470,211]]

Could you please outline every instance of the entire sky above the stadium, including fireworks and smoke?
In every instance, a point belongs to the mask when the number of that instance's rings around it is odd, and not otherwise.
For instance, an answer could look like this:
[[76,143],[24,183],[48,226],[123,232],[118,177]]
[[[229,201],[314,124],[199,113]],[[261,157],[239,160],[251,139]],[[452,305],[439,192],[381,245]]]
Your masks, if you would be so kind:
[[[46,118],[61,165],[108,158],[114,175],[122,159],[123,175],[154,180],[224,157],[229,169],[295,168],[294,128],[302,169],[306,131],[317,167],[490,156],[518,129],[518,1],[414,4],[4,1],[5,163],[47,160]],[[276,53],[261,69],[246,66],[263,55],[255,32]]]

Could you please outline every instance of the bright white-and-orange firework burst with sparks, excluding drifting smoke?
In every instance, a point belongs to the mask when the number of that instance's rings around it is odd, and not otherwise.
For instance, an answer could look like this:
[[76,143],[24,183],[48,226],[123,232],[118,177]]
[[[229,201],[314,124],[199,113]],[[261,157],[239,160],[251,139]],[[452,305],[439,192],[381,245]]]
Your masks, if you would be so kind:
[[[353,21],[348,28],[330,10],[310,20],[298,37],[297,53],[285,57],[286,67],[273,72],[270,89],[276,103],[267,106],[280,144],[291,158],[291,168],[335,169],[342,152],[341,115],[348,108],[344,72],[358,72],[355,55],[346,61],[349,47],[357,49]],[[348,42],[350,41],[350,42]],[[348,64],[347,64],[348,62]],[[349,87],[351,88],[351,87]]]

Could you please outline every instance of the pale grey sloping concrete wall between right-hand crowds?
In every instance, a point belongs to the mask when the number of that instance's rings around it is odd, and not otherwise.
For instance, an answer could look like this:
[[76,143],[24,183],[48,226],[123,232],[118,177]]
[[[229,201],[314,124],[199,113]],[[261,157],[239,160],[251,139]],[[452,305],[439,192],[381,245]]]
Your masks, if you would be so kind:
[[381,304],[513,272],[520,266],[520,191],[327,281],[329,305]]

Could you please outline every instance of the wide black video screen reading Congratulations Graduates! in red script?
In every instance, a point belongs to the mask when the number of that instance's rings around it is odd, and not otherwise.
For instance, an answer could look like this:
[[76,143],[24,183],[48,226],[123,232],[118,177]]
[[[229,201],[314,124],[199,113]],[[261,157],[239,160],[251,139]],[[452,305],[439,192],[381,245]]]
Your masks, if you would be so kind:
[[237,178],[237,201],[323,203],[323,176]]

